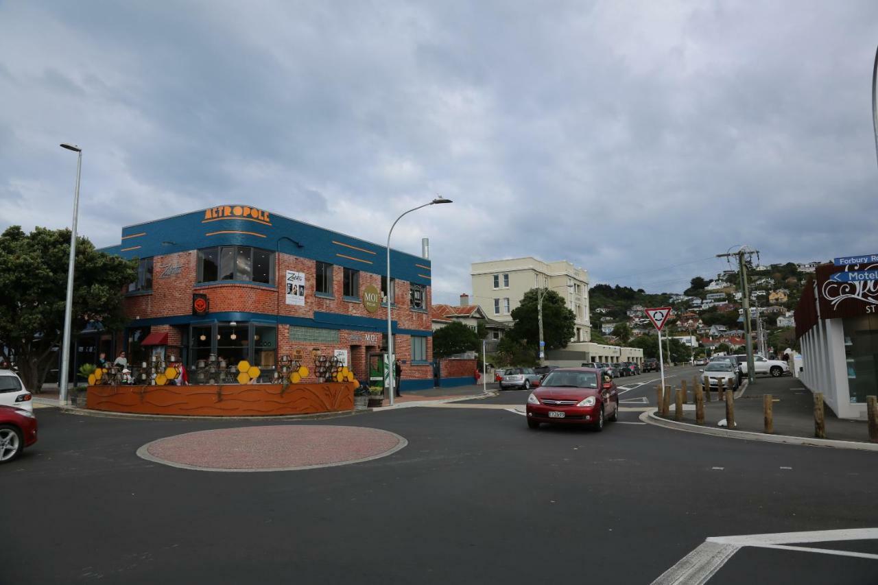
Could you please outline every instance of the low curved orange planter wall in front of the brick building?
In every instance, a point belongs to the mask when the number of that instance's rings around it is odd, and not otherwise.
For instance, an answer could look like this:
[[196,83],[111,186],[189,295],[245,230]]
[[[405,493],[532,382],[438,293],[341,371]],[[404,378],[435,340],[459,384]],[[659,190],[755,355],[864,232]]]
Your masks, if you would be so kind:
[[354,385],[89,386],[86,406],[141,415],[306,415],[353,410]]

